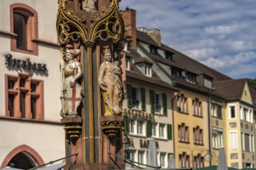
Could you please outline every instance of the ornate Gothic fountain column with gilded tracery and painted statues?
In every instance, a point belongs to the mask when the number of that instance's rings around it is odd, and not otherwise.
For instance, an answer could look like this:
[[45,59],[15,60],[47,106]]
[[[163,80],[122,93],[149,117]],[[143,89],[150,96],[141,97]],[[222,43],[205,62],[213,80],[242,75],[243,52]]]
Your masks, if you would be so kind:
[[[120,69],[123,19],[119,0],[58,0],[61,43],[61,123],[65,169],[121,169]],[[111,154],[109,154],[111,153]]]

